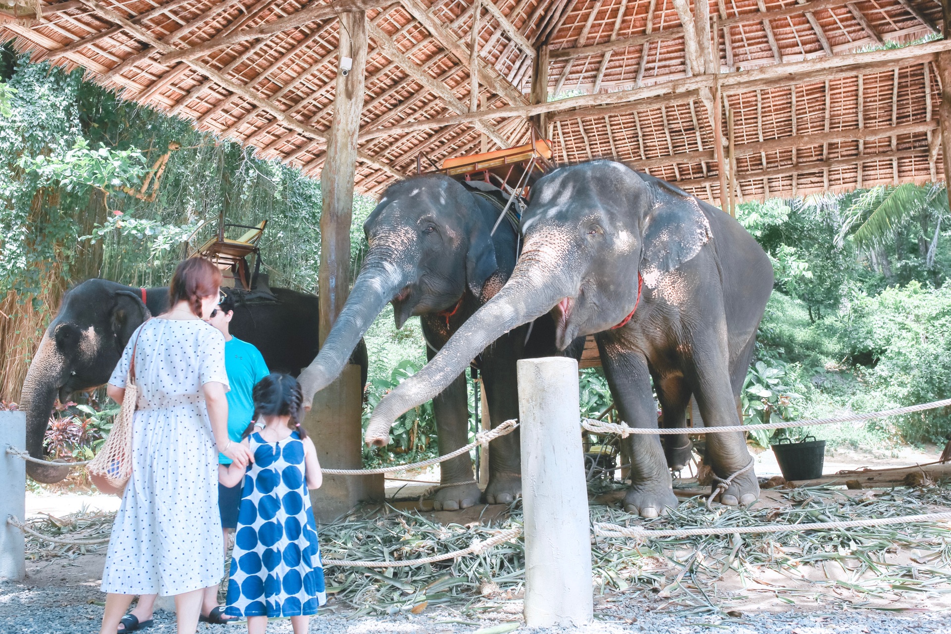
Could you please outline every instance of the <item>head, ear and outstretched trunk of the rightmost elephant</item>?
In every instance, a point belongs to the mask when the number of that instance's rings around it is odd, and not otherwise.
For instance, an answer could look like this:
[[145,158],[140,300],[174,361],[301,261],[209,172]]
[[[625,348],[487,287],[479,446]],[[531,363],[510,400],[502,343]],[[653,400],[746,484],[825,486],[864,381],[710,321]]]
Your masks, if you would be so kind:
[[438,394],[498,336],[552,313],[560,350],[631,316],[709,240],[699,202],[623,163],[554,170],[534,184],[524,247],[505,286],[420,371],[384,397],[366,442],[384,445],[401,413]]

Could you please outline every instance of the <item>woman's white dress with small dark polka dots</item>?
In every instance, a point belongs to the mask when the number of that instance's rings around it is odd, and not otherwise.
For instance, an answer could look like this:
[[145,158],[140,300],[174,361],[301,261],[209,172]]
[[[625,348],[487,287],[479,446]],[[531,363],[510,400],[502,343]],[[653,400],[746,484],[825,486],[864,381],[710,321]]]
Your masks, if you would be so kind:
[[[224,336],[201,319],[154,318],[140,330],[132,476],[112,527],[102,590],[168,596],[223,577],[218,451],[202,386],[227,389]],[[138,335],[109,379],[116,387],[126,386]]]

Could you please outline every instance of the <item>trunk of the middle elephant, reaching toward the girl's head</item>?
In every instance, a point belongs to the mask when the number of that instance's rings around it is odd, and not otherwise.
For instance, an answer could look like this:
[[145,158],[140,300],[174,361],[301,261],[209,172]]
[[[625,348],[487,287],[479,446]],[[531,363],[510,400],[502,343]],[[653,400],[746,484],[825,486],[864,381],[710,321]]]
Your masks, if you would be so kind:
[[368,259],[334,327],[320,346],[320,353],[298,377],[304,404],[309,407],[314,394],[340,375],[360,337],[405,284],[405,276],[397,266],[377,258]]

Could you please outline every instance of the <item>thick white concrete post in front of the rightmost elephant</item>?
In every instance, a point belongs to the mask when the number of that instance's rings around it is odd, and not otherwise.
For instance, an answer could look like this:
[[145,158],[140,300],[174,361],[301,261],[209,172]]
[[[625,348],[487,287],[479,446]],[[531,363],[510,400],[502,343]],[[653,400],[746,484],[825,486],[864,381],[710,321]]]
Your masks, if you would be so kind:
[[592,548],[578,409],[578,363],[518,361],[525,510],[525,624],[593,618]]

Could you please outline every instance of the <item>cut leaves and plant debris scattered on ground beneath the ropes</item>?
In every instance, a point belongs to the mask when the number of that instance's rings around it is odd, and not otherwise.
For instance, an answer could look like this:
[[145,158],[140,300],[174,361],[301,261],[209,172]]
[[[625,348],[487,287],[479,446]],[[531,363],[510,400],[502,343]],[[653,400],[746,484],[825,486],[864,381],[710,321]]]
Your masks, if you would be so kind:
[[[652,520],[599,505],[592,505],[591,518],[592,523],[642,528],[729,528],[951,509],[951,489],[946,487],[873,490],[857,496],[813,487],[776,494],[783,501],[780,508],[757,504],[749,509],[720,505],[707,509],[705,500],[696,497]],[[112,513],[47,516],[31,520],[31,526],[44,534],[95,539],[107,536],[112,517]],[[514,502],[502,517],[488,525],[442,525],[390,506],[382,512],[364,509],[323,526],[320,545],[326,559],[420,559],[468,548],[499,530],[521,526],[520,503]],[[36,559],[75,556],[96,548],[50,547],[29,538],[27,549],[28,557]],[[521,613],[524,569],[524,539],[519,537],[457,560],[415,567],[327,567],[325,574],[327,591],[336,597],[331,605],[352,607],[354,616],[419,613],[429,606],[451,605],[460,615],[475,617],[487,611]],[[789,604],[815,600],[882,606],[915,593],[951,592],[951,523],[643,541],[597,537],[592,539],[592,572],[602,604],[639,595],[657,609],[676,607],[697,616],[726,616],[757,591]]]

